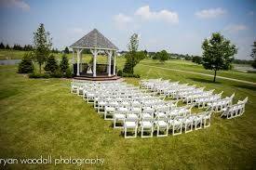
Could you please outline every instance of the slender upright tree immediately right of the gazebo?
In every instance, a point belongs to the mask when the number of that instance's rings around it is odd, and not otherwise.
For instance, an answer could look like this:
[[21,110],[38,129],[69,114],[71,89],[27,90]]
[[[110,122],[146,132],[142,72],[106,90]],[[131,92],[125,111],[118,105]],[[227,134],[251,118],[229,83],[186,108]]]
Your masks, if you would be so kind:
[[137,52],[139,47],[138,34],[134,33],[131,35],[128,43],[128,53],[125,55],[126,63],[123,72],[134,73],[134,67],[141,61],[145,59],[144,51]]

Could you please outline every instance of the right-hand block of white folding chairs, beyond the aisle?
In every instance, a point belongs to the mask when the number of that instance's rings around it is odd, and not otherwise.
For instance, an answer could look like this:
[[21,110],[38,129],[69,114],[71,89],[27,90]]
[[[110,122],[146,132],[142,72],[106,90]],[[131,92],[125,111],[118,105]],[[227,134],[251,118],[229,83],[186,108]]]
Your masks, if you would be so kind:
[[248,102],[248,98],[245,98],[243,101],[238,101],[237,104],[233,105],[235,93],[231,97],[222,98],[222,92],[213,94],[214,89],[204,91],[204,87],[196,88],[195,85],[180,85],[179,82],[169,82],[162,79],[141,80],[140,86],[156,92],[158,95],[164,94],[167,98],[181,99],[182,102],[188,105],[193,104],[199,109],[206,108],[207,111],[222,112],[221,117],[226,117],[227,119],[242,115]]

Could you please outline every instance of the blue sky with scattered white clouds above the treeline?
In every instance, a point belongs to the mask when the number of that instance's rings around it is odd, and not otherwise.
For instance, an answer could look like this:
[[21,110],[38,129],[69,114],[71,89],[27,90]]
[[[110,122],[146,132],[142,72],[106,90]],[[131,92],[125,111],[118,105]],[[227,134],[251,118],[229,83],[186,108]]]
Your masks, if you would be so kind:
[[250,59],[256,41],[255,0],[0,0],[0,42],[32,44],[44,23],[63,49],[98,29],[119,50],[138,33],[140,49],[201,55],[201,44],[220,32]]

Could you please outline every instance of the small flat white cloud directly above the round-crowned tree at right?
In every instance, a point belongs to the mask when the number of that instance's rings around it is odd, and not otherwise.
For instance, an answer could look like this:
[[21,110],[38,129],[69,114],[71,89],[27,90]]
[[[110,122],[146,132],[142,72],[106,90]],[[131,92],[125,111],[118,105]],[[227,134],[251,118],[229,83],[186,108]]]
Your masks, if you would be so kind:
[[225,9],[222,9],[222,7],[217,8],[209,8],[209,9],[203,9],[200,11],[195,12],[195,16],[200,19],[213,19],[220,17],[226,13]]

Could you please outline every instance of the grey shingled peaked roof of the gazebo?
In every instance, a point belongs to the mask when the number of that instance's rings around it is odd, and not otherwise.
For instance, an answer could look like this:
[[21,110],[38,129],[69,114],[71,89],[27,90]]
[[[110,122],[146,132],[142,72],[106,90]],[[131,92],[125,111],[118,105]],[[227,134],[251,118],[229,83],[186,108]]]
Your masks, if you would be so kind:
[[97,29],[92,30],[81,39],[76,41],[72,48],[98,48],[98,49],[112,49],[117,50],[118,48],[109,41],[102,33]]

